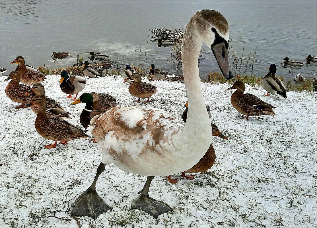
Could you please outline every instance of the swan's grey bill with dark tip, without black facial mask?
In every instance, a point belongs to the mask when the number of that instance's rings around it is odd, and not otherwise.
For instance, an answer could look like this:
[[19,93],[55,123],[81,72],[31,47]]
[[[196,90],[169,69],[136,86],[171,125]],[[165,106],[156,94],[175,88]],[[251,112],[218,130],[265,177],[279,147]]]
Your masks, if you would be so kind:
[[216,57],[217,63],[223,76],[227,80],[230,80],[233,77],[233,74],[228,59],[228,48],[226,48],[224,43],[220,43],[211,46],[211,50]]

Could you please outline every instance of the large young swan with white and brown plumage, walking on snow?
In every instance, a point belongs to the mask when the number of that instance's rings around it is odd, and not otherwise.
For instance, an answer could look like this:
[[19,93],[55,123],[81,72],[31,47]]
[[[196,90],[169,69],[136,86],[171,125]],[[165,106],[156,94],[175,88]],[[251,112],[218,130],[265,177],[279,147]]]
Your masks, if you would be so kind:
[[139,196],[132,201],[132,209],[144,211],[154,218],[173,210],[148,193],[154,176],[190,169],[210,147],[212,127],[198,69],[203,42],[213,50],[224,77],[228,80],[233,77],[228,60],[227,20],[216,10],[197,11],[185,26],[182,42],[184,84],[191,104],[186,123],[167,111],[145,106],[116,107],[93,117],[88,129],[101,147],[102,162],[90,187],[75,200],[73,216],[97,218],[110,209],[95,187],[106,165],[112,163],[122,171],[147,176]]

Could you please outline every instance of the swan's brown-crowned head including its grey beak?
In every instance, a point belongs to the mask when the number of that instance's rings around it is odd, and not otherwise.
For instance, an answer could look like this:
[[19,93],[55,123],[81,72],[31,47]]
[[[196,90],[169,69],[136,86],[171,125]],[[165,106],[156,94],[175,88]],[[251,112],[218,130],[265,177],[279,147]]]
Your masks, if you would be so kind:
[[233,74],[228,59],[229,25],[226,18],[216,10],[201,10],[191,19],[197,34],[211,48],[223,76],[227,80],[231,79]]

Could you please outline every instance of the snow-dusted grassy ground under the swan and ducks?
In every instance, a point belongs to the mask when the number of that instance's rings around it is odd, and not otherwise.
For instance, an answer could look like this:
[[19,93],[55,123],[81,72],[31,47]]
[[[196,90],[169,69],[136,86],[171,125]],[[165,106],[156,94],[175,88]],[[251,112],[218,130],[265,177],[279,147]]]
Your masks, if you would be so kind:
[[[7,76],[3,76],[2,80]],[[84,104],[70,105],[62,93],[60,76],[43,84],[46,95],[56,99],[79,125]],[[147,106],[181,118],[186,102],[183,83],[152,81],[158,92]],[[202,83],[211,120],[229,140],[214,137],[214,166],[197,173],[195,180],[181,178],[171,184],[155,177],[149,195],[169,204],[173,212],[155,220],[132,210],[131,202],[146,177],[107,165],[97,182],[97,192],[112,207],[96,220],[72,218],[74,199],[87,189],[101,161],[99,146],[90,138],[58,144],[35,130],[35,114],[18,109],[2,90],[3,225],[314,225],[314,93],[288,92],[288,98],[265,97],[262,87],[246,92],[278,107],[275,116],[246,120],[232,107],[229,84]],[[120,76],[88,78],[82,92],[108,93],[118,106],[135,105]],[[145,99],[144,99],[145,101]],[[141,104],[145,105],[145,104]]]

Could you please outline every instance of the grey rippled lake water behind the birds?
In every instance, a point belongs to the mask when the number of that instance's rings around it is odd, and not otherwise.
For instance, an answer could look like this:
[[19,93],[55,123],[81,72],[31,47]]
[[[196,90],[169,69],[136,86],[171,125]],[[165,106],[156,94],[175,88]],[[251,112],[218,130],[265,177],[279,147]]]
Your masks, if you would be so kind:
[[[108,54],[121,69],[126,64],[149,69],[154,63],[158,69],[182,74],[171,48],[148,41],[149,29],[182,30],[193,13],[202,9],[218,10],[226,17],[231,45],[239,57],[244,42],[244,57],[252,57],[256,50],[253,67],[250,61],[239,61],[232,65],[234,74],[266,75],[269,64],[275,63],[277,74],[283,77],[297,73],[314,77],[315,64],[305,60],[315,53],[314,3],[3,3],[2,65],[10,72],[16,65],[9,63],[23,56],[26,64],[35,67],[66,67],[78,53],[88,60],[87,54],[94,51]],[[212,51],[205,44],[202,49],[200,77],[220,72]],[[67,51],[71,56],[53,60],[53,51]],[[233,63],[231,50],[229,56]],[[284,66],[284,57],[305,65]],[[288,74],[290,70],[294,75]]]

